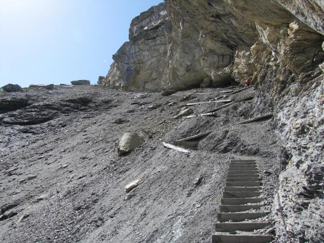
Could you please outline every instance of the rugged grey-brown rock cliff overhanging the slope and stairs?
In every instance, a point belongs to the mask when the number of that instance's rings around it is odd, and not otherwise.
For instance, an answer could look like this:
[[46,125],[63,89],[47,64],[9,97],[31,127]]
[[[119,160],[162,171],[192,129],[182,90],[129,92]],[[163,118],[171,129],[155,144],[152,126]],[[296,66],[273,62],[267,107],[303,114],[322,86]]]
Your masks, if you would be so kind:
[[274,111],[282,144],[279,242],[323,242],[323,16],[320,0],[166,0],[132,21],[98,84],[160,91],[251,78],[254,113]]

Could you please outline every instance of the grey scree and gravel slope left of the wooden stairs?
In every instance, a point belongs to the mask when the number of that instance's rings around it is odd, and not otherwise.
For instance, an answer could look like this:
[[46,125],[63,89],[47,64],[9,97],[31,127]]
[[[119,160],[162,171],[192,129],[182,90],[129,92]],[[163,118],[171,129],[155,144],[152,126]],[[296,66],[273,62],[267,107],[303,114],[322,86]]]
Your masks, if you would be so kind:
[[[1,94],[0,103],[15,105],[0,114],[0,206],[17,214],[0,221],[0,241],[210,242],[229,159],[263,161],[266,198],[278,172],[271,119],[237,125],[257,115],[251,101],[215,116],[173,118],[186,103],[224,95],[218,90],[161,96],[75,86]],[[253,94],[250,88],[226,95]],[[190,108],[198,114],[221,105]],[[153,137],[117,156],[120,137],[143,129]],[[162,145],[206,131],[212,133],[188,154]],[[137,179],[125,200],[125,186]],[[272,201],[265,203],[270,208]]]

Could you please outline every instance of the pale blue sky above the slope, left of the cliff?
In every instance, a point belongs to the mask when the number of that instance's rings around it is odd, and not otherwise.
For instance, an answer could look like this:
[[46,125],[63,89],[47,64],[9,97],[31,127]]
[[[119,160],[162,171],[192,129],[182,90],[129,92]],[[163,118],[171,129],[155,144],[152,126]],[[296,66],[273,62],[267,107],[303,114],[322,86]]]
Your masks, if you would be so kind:
[[134,17],[163,0],[0,0],[0,87],[105,76]]

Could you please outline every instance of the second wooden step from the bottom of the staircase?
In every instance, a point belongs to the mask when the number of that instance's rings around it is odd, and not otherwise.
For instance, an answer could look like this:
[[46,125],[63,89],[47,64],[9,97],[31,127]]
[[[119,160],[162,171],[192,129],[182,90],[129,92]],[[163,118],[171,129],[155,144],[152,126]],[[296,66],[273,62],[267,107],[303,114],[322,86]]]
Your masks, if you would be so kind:
[[216,231],[217,232],[233,232],[236,230],[240,231],[253,231],[255,229],[262,229],[264,227],[268,227],[269,223],[263,222],[253,222],[253,223],[216,223]]

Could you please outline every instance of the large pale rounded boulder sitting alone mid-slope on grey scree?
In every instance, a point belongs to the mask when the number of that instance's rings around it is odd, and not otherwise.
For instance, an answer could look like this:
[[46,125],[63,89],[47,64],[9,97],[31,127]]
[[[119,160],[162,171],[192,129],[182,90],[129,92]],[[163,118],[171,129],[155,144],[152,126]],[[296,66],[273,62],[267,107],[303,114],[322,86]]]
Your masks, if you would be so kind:
[[123,155],[131,152],[138,146],[142,145],[146,140],[144,133],[125,133],[119,141],[117,149],[118,155]]

